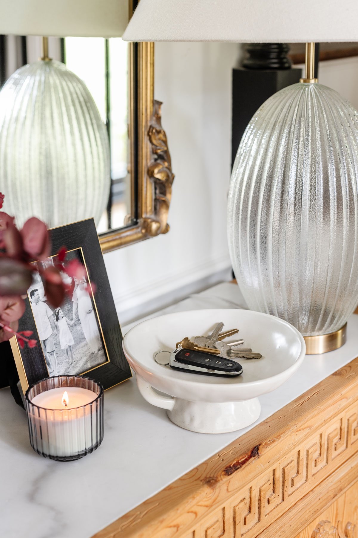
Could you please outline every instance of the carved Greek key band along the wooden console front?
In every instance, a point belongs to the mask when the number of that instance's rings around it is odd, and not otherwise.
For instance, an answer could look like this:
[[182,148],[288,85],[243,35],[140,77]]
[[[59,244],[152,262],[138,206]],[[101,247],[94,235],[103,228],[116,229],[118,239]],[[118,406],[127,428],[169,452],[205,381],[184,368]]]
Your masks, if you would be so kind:
[[[279,513],[294,505],[340,465],[341,461],[336,462],[336,458],[345,453],[344,459],[347,459],[358,450],[358,445],[352,446],[356,441],[358,413],[355,404],[338,417],[327,421],[320,431],[296,446],[280,463],[268,466],[254,483],[239,490],[227,505],[217,509],[209,519],[210,523],[208,518],[205,518],[205,524],[196,526],[188,538],[256,536],[271,524]],[[345,534],[322,536],[353,538],[352,523],[347,523]],[[312,538],[320,537],[320,534],[312,535]]]

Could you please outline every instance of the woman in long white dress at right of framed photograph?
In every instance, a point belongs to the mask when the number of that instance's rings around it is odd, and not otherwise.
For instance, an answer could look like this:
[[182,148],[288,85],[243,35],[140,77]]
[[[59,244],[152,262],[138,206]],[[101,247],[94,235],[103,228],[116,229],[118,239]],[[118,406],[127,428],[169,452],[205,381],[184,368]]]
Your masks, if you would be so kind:
[[90,346],[92,353],[96,353],[102,344],[91,297],[86,289],[87,282],[85,279],[78,280],[75,278],[75,284],[75,290],[72,296],[72,301],[74,302],[73,315],[75,318],[76,312],[78,312],[86,342]]

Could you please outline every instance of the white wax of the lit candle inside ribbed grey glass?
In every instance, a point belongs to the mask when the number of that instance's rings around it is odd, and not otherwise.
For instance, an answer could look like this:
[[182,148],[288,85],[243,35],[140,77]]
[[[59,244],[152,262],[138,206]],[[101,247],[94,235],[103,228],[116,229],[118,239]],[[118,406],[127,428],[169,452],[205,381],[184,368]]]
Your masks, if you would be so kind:
[[[64,392],[68,405],[63,404]],[[81,454],[96,438],[96,405],[88,405],[97,394],[81,387],[57,387],[37,394],[31,403],[35,435],[42,439],[43,451],[52,456],[68,457]],[[85,407],[83,407],[85,406]]]

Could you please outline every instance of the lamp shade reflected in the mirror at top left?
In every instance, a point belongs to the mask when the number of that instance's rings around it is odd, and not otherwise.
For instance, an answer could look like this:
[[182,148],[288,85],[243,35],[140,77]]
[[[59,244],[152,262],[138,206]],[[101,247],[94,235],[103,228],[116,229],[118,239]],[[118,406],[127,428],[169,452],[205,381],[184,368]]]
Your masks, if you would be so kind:
[[0,34],[121,37],[128,0],[0,0]]

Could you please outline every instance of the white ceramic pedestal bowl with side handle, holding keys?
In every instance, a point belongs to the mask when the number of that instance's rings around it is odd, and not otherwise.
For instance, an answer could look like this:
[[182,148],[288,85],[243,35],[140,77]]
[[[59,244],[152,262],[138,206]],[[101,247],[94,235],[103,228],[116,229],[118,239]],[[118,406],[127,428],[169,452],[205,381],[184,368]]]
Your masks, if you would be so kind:
[[[203,376],[155,362],[157,351],[172,351],[185,336],[207,335],[220,321],[225,330],[239,328],[227,341],[244,338],[245,347],[262,353],[258,360],[236,359],[244,369],[240,376]],[[278,317],[251,310],[210,309],[143,321],[127,332],[123,350],[145,400],[166,409],[170,420],[182,428],[217,434],[244,428],[258,419],[258,396],[292,376],[304,359],[305,343],[292,325]]]

